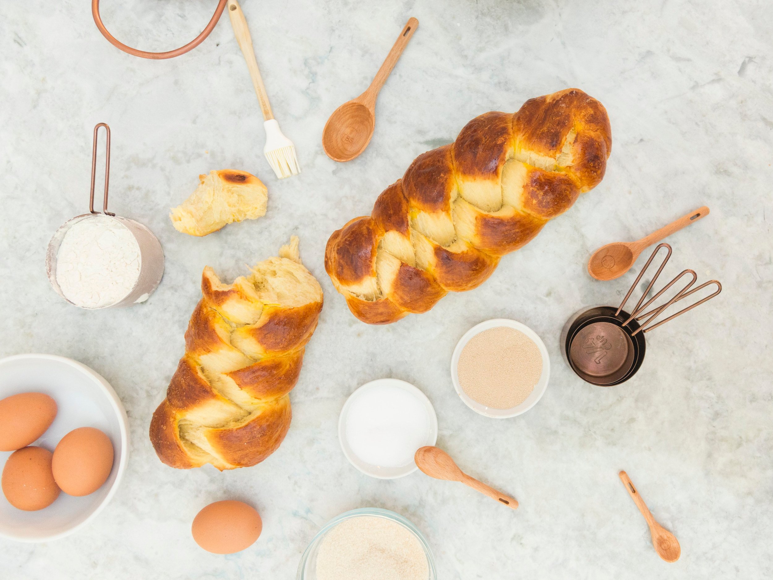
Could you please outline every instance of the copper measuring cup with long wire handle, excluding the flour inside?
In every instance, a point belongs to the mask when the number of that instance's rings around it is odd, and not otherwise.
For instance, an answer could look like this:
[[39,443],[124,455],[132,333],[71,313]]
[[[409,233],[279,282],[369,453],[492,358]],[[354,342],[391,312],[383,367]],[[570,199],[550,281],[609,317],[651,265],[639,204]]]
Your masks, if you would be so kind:
[[[107,142],[106,142],[106,154],[105,154],[105,168],[104,168],[104,199],[102,202],[102,212],[94,211],[94,182],[97,174],[97,135],[100,127],[104,127]],[[161,243],[158,238],[155,237],[153,232],[145,227],[143,224],[130,220],[127,217],[119,217],[114,213],[107,211],[107,189],[110,182],[110,127],[105,123],[97,123],[94,126],[94,145],[91,151],[91,193],[89,197],[89,213],[83,213],[80,216],[73,217],[71,220],[67,220],[63,225],[56,230],[53,234],[51,241],[49,242],[48,251],[46,252],[46,274],[49,281],[63,299],[70,304],[74,304],[80,308],[85,309],[103,309],[114,308],[118,306],[130,306],[137,304],[138,302],[145,302],[148,297],[153,293],[155,288],[158,287],[158,283],[161,281],[164,274],[164,251],[162,250]],[[107,217],[111,220],[115,220],[121,224],[121,227],[125,227],[131,233],[137,242],[139,248],[139,274],[134,286],[128,291],[121,299],[111,304],[106,304],[97,307],[83,306],[75,304],[66,297],[62,288],[60,288],[59,282],[56,280],[56,263],[57,255],[59,254],[60,246],[66,233],[73,225],[82,221],[90,220],[95,217],[104,218]]]

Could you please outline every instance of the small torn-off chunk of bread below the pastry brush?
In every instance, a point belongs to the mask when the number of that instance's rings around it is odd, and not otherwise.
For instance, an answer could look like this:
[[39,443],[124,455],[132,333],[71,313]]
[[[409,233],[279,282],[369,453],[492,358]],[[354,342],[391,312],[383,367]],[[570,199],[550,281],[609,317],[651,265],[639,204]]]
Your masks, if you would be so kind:
[[206,236],[228,223],[254,220],[266,213],[268,194],[260,179],[246,171],[221,169],[200,175],[201,183],[169,217],[175,230]]

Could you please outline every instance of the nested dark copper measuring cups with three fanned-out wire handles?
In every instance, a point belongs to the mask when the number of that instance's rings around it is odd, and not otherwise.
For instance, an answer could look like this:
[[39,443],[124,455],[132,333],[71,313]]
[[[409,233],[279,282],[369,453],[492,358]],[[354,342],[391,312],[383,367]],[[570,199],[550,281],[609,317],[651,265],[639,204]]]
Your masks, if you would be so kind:
[[[632,313],[625,312],[623,310],[625,303],[628,302],[638,282],[642,279],[647,268],[649,268],[649,264],[652,263],[652,260],[662,247],[667,248],[666,258],[660,264],[658,271],[652,278],[652,281],[649,282]],[[669,261],[671,252],[672,249],[669,244],[659,244],[655,248],[655,251],[652,252],[649,260],[642,268],[642,271],[639,272],[639,275],[617,309],[614,306],[595,306],[590,309],[583,309],[571,316],[564,325],[560,342],[561,354],[578,377],[600,387],[611,387],[615,384],[624,383],[636,374],[642,366],[647,346],[645,333],[669,322],[669,320],[675,319],[676,316],[688,310],[692,310],[722,292],[722,285],[717,280],[710,280],[697,288],[692,288],[697,280],[697,275],[693,270],[684,270],[661,288],[659,292],[656,292],[651,299],[646,300],[660,272],[666,266],[666,262]],[[690,281],[676,292],[668,302],[649,310],[649,312],[644,312],[684,276],[689,276]],[[654,322],[670,305],[693,295],[709,285],[716,285],[717,291],[660,322]],[[639,322],[642,320],[644,322]]]

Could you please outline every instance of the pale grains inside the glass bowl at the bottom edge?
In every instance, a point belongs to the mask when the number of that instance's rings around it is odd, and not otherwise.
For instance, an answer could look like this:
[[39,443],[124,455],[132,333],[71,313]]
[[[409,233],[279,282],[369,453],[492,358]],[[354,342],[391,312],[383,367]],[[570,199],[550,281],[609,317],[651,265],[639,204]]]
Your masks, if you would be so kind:
[[424,548],[405,527],[376,516],[343,520],[325,535],[318,580],[427,580]]

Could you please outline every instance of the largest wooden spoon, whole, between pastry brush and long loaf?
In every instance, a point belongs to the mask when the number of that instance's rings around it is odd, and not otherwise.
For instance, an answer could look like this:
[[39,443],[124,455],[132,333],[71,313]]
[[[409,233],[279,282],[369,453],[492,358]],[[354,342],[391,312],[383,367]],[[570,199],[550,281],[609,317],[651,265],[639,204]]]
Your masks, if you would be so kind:
[[418,26],[417,19],[408,20],[367,90],[330,115],[322,130],[322,148],[333,161],[351,161],[365,151],[376,126],[376,98]]

